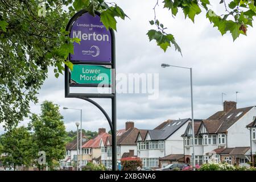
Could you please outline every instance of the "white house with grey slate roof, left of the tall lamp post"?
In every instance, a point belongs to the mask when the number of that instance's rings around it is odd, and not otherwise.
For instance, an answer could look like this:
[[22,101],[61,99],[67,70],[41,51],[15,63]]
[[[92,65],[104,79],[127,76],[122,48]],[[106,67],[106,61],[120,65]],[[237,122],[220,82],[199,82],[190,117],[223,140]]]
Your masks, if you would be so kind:
[[[138,157],[142,159],[143,167],[158,168],[167,166],[175,156],[183,155],[183,138],[188,122],[191,119],[168,120],[154,130],[139,132],[137,137]],[[160,160],[168,156],[170,160]],[[177,158],[176,158],[177,159]],[[177,159],[179,160],[179,159]]]

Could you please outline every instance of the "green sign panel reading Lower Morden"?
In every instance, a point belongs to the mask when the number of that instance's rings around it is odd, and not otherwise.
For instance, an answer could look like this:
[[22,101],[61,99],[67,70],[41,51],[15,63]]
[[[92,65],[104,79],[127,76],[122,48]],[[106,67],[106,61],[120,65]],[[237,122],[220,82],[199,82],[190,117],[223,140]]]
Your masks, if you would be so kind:
[[111,85],[111,66],[74,64],[71,84]]

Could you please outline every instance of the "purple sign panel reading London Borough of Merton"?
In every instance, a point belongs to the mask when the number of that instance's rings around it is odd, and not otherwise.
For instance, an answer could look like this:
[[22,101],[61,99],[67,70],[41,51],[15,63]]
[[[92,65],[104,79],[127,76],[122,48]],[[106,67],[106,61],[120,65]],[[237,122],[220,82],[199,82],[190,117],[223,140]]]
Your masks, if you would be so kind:
[[74,55],[71,61],[112,61],[112,44],[110,31],[100,22],[100,16],[89,13],[75,20],[71,28],[71,38],[79,38],[80,44],[74,43]]

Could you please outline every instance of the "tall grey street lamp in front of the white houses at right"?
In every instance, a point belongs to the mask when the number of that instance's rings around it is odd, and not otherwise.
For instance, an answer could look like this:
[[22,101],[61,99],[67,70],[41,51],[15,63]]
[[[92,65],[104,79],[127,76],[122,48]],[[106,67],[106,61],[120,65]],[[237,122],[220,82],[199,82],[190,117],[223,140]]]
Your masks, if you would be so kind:
[[191,119],[192,119],[192,167],[195,169],[195,123],[194,123],[194,111],[193,111],[193,82],[192,82],[192,68],[187,68],[187,67],[179,67],[179,66],[175,66],[175,65],[170,65],[170,64],[161,64],[162,68],[166,68],[166,67],[176,67],[176,68],[184,68],[184,69],[189,69],[190,71],[190,86],[191,86]]

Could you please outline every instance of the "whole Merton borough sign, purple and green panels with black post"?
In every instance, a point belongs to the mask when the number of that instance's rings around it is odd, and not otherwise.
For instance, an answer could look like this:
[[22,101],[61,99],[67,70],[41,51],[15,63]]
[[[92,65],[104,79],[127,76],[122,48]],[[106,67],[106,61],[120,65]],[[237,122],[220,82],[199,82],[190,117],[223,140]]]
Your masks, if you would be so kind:
[[[68,56],[73,70],[65,65],[65,97],[80,98],[98,107],[105,115],[112,131],[112,170],[117,168],[116,155],[116,95],[115,95],[115,37],[112,29],[107,30],[100,21],[100,13],[95,16],[81,10],[68,22],[66,31],[70,38],[80,39],[73,43],[74,54]],[[110,87],[112,93],[70,93],[71,86]],[[92,98],[111,98],[112,119]]]

